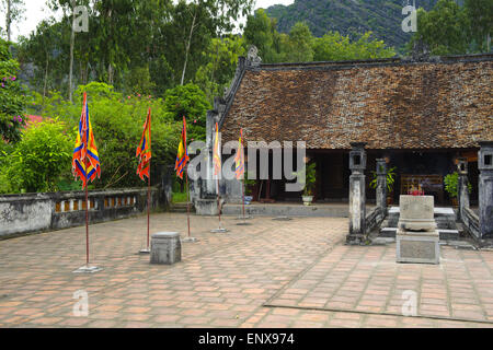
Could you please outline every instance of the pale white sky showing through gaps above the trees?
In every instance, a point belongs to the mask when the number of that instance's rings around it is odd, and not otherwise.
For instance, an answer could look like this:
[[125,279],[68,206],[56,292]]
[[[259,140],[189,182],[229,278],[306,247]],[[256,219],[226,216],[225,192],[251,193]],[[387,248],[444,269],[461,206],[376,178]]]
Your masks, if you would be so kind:
[[[24,0],[25,2],[25,13],[24,13],[24,20],[14,24],[12,27],[12,39],[16,40],[18,36],[24,35],[28,36],[31,32],[36,30],[37,24],[49,18],[53,13],[51,11],[46,7],[45,0]],[[294,0],[257,0],[255,9],[259,8],[268,8],[273,4],[290,4],[295,2]],[[0,26],[5,27],[5,20],[4,20],[4,13],[0,14]]]

